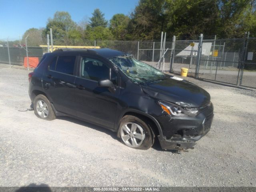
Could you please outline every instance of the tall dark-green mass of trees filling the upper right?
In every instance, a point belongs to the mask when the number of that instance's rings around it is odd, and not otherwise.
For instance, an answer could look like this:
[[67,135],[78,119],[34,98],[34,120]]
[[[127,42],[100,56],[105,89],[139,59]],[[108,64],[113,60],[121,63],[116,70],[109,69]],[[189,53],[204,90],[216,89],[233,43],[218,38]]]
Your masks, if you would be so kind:
[[131,14],[126,37],[160,39],[160,32],[179,38],[241,36],[256,30],[256,0],[140,0]]

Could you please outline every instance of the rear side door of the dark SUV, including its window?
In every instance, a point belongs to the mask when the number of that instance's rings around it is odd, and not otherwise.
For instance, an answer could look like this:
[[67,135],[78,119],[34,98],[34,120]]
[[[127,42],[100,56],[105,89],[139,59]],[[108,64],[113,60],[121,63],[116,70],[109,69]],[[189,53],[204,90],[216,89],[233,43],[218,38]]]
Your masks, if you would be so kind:
[[76,55],[60,55],[52,58],[42,79],[43,88],[57,111],[75,115],[74,81]]

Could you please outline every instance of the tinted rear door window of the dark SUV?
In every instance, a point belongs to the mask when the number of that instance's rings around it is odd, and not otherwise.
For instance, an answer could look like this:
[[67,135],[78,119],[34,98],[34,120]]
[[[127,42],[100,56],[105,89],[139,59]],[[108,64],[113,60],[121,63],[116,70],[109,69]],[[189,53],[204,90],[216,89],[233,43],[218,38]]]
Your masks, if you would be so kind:
[[76,56],[59,56],[56,71],[73,75]]

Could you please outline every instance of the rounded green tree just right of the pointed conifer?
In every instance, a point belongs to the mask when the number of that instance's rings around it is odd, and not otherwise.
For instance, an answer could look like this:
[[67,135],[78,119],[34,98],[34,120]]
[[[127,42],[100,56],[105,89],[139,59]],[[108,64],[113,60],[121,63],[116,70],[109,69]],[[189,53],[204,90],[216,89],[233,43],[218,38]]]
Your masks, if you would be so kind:
[[110,20],[110,30],[116,40],[126,40],[130,18],[124,14],[115,14]]

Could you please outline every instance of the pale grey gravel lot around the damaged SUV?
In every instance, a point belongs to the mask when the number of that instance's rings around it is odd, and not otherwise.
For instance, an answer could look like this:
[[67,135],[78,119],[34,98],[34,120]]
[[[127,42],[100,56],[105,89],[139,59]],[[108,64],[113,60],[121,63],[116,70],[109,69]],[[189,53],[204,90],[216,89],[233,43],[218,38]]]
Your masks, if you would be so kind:
[[80,120],[20,112],[27,74],[0,64],[0,186],[256,186],[256,91],[187,78],[212,96],[212,129],[189,152],[144,151]]

